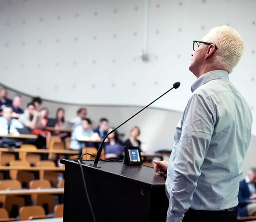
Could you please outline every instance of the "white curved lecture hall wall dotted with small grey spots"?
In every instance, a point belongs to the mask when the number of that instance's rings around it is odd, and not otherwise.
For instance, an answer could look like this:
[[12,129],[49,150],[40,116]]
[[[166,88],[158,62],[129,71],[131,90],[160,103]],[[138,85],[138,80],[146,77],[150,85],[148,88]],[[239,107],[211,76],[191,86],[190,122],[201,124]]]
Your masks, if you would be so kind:
[[[51,116],[62,106],[70,120],[86,106],[95,126],[101,116],[117,126],[180,81],[119,130],[128,136],[138,125],[144,150],[171,149],[196,80],[188,70],[193,40],[215,26],[230,25],[244,40],[230,80],[255,119],[255,11],[255,0],[1,0],[0,83],[10,95],[40,95]],[[255,156],[253,137],[245,170]]]

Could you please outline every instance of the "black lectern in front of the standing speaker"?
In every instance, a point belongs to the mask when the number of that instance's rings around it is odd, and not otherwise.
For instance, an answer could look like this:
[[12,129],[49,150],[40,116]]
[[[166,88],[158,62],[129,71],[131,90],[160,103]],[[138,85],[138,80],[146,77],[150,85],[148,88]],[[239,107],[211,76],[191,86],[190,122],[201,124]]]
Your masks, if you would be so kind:
[[[93,221],[78,162],[61,163],[65,164],[63,222]],[[90,163],[82,161],[82,168],[96,222],[166,221],[165,179],[152,167],[100,161],[101,168],[94,168]]]

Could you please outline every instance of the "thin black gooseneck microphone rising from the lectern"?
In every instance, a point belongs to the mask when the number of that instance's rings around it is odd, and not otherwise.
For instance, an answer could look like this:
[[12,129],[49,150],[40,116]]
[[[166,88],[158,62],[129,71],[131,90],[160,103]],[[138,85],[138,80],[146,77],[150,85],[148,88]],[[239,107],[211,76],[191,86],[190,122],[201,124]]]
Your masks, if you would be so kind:
[[173,84],[173,87],[171,89],[169,89],[167,92],[165,92],[164,94],[162,94],[161,96],[159,96],[157,99],[155,99],[153,102],[150,102],[147,106],[145,106],[142,110],[138,111],[137,113],[135,113],[132,117],[130,117],[128,120],[124,121],[122,124],[120,124],[118,127],[116,127],[115,129],[111,130],[102,140],[101,144],[100,144],[100,148],[98,149],[97,155],[95,157],[94,163],[92,164],[94,167],[100,167],[98,165],[99,159],[100,159],[100,155],[102,152],[102,147],[103,144],[106,140],[106,138],[109,136],[109,134],[113,133],[114,131],[116,131],[119,127],[121,127],[122,125],[124,125],[125,123],[127,123],[129,120],[131,120],[133,117],[137,116],[140,112],[142,112],[143,110],[145,110],[147,107],[149,107],[152,103],[156,102],[156,100],[160,99],[162,96],[164,96],[166,93],[170,92],[172,89],[177,89],[180,87],[180,82],[176,82]]

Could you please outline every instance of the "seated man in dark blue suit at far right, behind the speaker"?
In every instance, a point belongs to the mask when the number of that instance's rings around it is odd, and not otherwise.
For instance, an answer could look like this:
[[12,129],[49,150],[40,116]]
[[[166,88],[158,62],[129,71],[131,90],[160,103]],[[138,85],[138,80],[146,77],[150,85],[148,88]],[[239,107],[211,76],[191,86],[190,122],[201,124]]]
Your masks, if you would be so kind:
[[244,180],[240,181],[237,215],[256,216],[256,168],[251,168]]

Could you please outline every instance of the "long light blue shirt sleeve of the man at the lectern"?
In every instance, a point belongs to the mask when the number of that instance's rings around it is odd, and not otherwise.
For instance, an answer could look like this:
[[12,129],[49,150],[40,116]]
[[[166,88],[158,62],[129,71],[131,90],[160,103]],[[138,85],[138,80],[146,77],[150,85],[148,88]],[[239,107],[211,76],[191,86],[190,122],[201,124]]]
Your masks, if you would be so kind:
[[190,97],[182,117],[181,137],[173,157],[167,222],[181,222],[190,208],[201,166],[213,135],[212,103],[199,94]]

